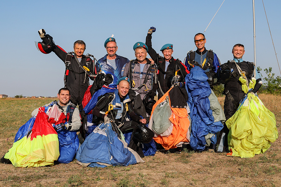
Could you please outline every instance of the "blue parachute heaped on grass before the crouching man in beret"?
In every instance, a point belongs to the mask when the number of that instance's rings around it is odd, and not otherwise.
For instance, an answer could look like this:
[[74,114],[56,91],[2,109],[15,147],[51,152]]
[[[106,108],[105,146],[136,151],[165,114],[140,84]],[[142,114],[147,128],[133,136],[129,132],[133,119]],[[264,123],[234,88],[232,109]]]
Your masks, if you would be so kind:
[[[119,134],[119,135],[118,135]],[[76,163],[84,167],[127,166],[144,161],[127,147],[121,131],[114,132],[108,117],[86,137],[76,154]]]

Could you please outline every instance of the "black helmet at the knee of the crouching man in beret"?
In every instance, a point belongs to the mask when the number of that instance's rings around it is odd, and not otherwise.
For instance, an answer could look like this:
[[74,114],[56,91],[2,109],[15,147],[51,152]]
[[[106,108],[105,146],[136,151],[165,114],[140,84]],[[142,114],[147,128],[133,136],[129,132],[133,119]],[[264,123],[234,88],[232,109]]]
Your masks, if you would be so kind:
[[154,137],[154,132],[148,127],[139,124],[137,125],[136,132],[133,132],[133,136],[141,143],[149,143]]

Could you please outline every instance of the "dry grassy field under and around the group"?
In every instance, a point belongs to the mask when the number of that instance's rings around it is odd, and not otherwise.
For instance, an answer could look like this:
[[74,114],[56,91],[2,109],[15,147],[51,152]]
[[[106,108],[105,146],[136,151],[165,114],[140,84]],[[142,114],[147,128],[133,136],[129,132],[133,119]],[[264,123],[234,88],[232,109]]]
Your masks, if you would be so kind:
[[[280,134],[281,96],[259,95],[275,114]],[[0,156],[12,146],[20,126],[33,109],[50,98],[0,99]],[[223,105],[224,98],[219,98]],[[145,157],[145,163],[128,167],[83,168],[76,164],[51,167],[16,168],[0,164],[0,186],[281,186],[281,141],[277,139],[264,153],[253,158],[227,157],[225,153],[194,152]]]

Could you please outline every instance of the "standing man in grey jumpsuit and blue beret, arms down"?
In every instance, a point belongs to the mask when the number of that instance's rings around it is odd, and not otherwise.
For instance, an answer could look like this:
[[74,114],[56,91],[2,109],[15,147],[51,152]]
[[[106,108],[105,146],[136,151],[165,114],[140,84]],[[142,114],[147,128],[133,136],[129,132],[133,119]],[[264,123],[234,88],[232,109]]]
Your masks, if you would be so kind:
[[157,84],[155,83],[156,68],[147,56],[148,48],[143,42],[136,42],[133,46],[135,60],[125,65],[124,77],[129,77],[130,87],[141,95],[141,99],[149,94],[150,98],[156,95]]

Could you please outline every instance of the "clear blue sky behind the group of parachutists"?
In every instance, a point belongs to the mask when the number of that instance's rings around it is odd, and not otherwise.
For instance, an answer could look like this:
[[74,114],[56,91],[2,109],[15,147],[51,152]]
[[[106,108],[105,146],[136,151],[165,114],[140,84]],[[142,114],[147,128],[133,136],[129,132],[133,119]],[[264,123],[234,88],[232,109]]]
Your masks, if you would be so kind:
[[[73,50],[73,42],[86,42],[86,53],[100,59],[104,41],[114,34],[117,54],[134,59],[133,45],[145,42],[147,30],[156,27],[152,46],[156,51],[174,44],[174,58],[184,60],[194,47],[194,35],[204,32],[223,0],[214,1],[3,1],[0,11],[2,45],[0,94],[56,96],[64,86],[65,66],[53,52],[45,55],[34,41],[44,28],[56,45]],[[276,52],[281,50],[281,2],[264,1]],[[262,1],[255,1],[257,66],[273,67],[280,75]],[[222,63],[233,58],[236,43],[245,46],[246,61],[254,61],[252,1],[225,0],[205,32],[205,47]],[[196,50],[196,48],[195,48]],[[160,51],[159,51],[160,52]],[[280,55],[279,61],[281,61]],[[265,73],[262,72],[265,76]]]

